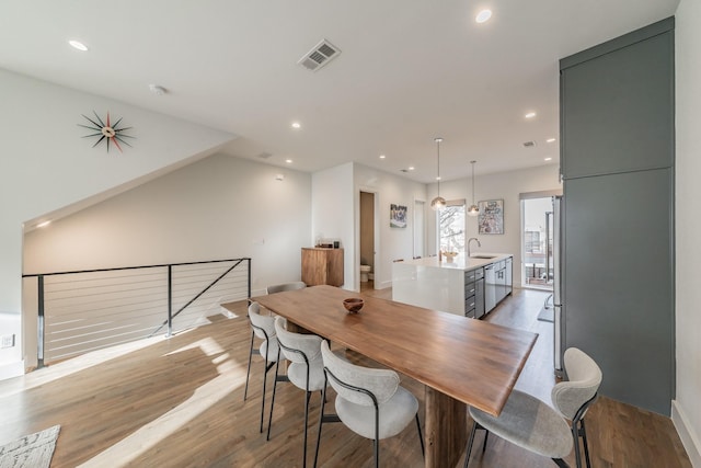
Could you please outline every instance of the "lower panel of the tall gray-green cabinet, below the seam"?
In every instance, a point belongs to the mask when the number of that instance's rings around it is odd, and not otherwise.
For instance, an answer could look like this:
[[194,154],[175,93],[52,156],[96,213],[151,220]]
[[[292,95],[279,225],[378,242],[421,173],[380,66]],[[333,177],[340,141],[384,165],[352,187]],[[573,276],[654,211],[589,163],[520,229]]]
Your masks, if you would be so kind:
[[[590,353],[601,392],[667,413],[674,321],[669,169],[567,181],[565,342]],[[599,207],[606,207],[600,209]]]

